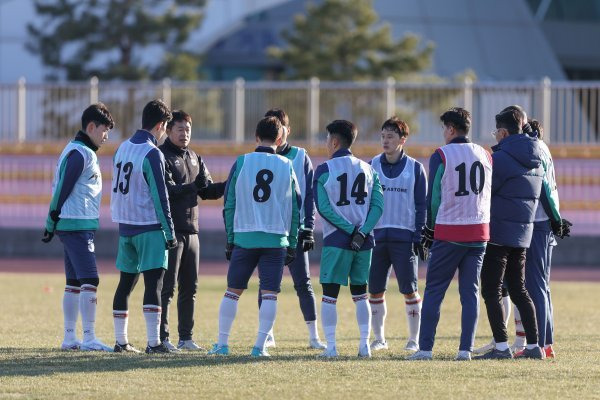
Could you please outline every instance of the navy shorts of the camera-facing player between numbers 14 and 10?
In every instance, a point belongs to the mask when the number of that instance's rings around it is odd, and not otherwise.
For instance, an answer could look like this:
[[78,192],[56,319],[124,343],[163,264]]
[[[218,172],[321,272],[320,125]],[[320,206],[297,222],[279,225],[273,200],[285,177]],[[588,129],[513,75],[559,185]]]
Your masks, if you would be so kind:
[[417,257],[411,242],[377,242],[373,249],[369,272],[369,293],[383,293],[387,289],[391,266],[394,267],[400,293],[417,291]]

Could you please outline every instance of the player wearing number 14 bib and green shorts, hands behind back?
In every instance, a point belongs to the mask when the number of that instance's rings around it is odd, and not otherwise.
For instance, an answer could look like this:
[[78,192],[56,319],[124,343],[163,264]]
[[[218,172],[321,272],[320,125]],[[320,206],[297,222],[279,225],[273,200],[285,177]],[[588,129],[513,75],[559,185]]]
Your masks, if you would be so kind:
[[337,357],[336,303],[340,285],[347,286],[356,306],[360,333],[359,357],[370,357],[371,308],[367,281],[371,266],[373,228],[383,213],[383,192],[377,173],[351,151],[358,131],[350,121],[327,125],[327,154],[330,159],[315,172],[313,193],[323,217],[323,252],[320,283],[323,286],[321,319],[327,339],[322,357]]

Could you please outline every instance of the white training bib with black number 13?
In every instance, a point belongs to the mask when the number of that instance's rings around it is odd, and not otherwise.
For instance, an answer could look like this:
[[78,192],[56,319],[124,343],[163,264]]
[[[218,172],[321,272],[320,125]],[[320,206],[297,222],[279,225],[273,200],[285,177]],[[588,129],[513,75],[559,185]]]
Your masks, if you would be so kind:
[[[126,140],[117,149],[110,193],[110,212],[114,222],[130,225],[159,223],[150,186],[142,169],[146,155],[156,148],[148,142],[134,144]],[[159,154],[164,163],[162,153]]]

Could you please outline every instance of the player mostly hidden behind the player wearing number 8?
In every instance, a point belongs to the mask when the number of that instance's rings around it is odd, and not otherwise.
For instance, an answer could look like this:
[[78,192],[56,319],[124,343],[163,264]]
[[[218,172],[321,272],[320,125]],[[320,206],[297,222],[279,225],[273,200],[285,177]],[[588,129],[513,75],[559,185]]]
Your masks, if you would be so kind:
[[[300,207],[300,232],[298,234],[298,246],[296,248],[296,258],[288,265],[294,289],[300,302],[300,310],[304,316],[306,327],[308,328],[308,346],[313,349],[324,349],[325,345],[319,340],[317,330],[317,305],[315,294],[310,283],[310,267],[308,264],[308,252],[313,249],[315,239],[313,228],[315,225],[315,203],[313,200],[312,180],[313,166],[308,153],[302,147],[292,146],[287,142],[291,134],[290,119],[284,110],[274,108],[265,114],[265,117],[276,117],[283,125],[283,134],[281,135],[281,144],[277,147],[277,154],[282,155],[292,161],[294,173],[298,179],[300,194],[302,195],[302,205]],[[258,296],[259,306],[261,296]],[[273,331],[269,333],[266,347],[274,347],[275,338]]]

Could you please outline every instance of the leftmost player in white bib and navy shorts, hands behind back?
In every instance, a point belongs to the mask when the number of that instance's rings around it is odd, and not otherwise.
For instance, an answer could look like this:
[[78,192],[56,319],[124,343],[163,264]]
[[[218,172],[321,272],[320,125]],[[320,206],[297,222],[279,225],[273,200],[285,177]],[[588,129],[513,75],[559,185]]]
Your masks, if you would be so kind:
[[[108,139],[113,118],[102,103],[92,104],[81,115],[81,130],[64,148],[52,182],[52,200],[43,242],[56,233],[65,250],[66,285],[63,295],[63,350],[112,351],[96,338],[96,268],[94,233],[98,229],[102,175],[96,151]],[[75,326],[81,312],[83,342]]]

